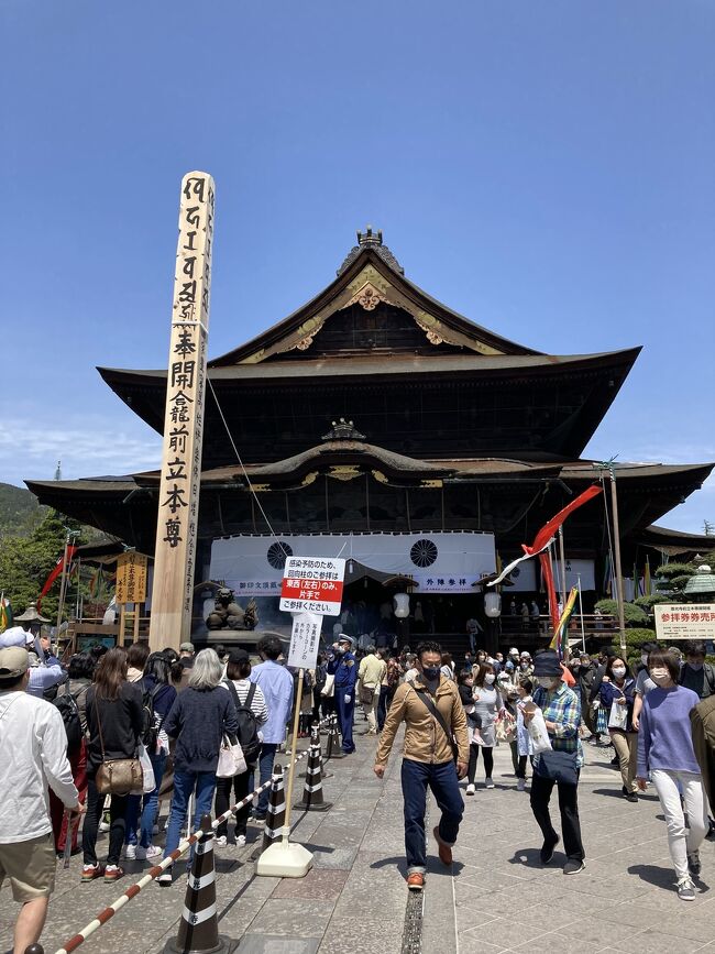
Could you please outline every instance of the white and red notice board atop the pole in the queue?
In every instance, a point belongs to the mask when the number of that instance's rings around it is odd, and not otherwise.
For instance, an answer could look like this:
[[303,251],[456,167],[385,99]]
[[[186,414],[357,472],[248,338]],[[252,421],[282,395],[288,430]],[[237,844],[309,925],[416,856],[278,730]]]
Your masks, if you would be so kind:
[[280,586],[280,610],[340,616],[345,561],[330,557],[288,557]]

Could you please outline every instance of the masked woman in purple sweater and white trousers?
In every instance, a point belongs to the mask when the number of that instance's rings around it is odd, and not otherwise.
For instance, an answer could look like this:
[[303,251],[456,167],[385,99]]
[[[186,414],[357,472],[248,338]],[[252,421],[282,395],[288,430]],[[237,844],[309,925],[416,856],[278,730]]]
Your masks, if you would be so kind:
[[[692,878],[698,877],[698,849],[707,834],[707,801],[701,769],[693,750],[691,710],[700,699],[692,689],[678,684],[680,666],[670,653],[653,650],[648,657],[656,688],[644,699],[638,734],[638,788],[646,779],[656,787],[668,826],[668,847],[675,868],[678,897],[695,900]],[[680,792],[688,812],[688,830]]]

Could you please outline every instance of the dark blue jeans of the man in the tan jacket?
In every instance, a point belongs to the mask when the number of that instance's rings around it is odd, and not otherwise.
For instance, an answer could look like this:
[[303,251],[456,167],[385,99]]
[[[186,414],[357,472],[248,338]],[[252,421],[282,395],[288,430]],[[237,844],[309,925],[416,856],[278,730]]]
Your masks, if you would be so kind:
[[427,787],[432,790],[442,816],[439,836],[448,845],[453,845],[464,813],[464,802],[457,778],[453,761],[431,765],[426,761],[403,759],[403,798],[405,799],[405,852],[407,873],[427,870],[427,844],[425,841],[425,812],[427,810]]

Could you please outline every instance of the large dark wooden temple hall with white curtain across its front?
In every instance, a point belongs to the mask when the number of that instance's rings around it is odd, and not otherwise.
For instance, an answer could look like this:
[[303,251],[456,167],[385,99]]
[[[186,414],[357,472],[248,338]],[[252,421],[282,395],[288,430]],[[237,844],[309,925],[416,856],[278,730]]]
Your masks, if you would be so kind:
[[[204,583],[255,599],[262,626],[289,626],[277,608],[286,553],[345,557],[346,601],[377,615],[385,583],[410,579],[415,629],[463,633],[483,612],[479,581],[600,480],[582,453],[639,351],[544,354],[510,341],[408,279],[381,232],[359,232],[310,301],[209,361],[196,638]],[[99,373],[162,432],[166,369]],[[712,468],[617,464],[626,577],[647,557],[657,567],[705,546],[657,522]],[[42,504],[153,555],[158,470],[26,483]],[[608,585],[606,516],[600,495],[564,525],[565,583],[580,580],[587,608]],[[534,563],[504,601],[546,612]]]

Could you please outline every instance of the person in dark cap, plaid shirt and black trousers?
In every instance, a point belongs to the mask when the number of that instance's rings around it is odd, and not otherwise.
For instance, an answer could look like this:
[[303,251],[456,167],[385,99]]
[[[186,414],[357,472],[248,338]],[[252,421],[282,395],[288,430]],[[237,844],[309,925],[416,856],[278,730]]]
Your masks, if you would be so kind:
[[[560,838],[551,824],[549,801],[556,785],[559,791],[559,810],[561,812],[561,831],[566,862],[564,875],[576,875],[585,867],[583,843],[581,841],[581,822],[579,820],[579,772],[583,765],[583,748],[579,738],[581,724],[581,702],[579,694],[562,680],[563,670],[558,654],[553,649],[539,653],[534,660],[534,681],[537,689],[534,692],[534,705],[541,710],[546,722],[549,742],[553,753],[564,753],[571,756],[563,759],[572,763],[575,782],[563,778],[554,778],[553,761],[540,755],[534,759],[534,778],[531,779],[531,811],[543,835],[541,847],[541,864],[548,865],[553,857],[553,851]],[[524,710],[524,721],[528,725],[534,717],[534,709]]]

